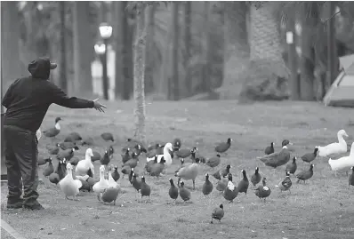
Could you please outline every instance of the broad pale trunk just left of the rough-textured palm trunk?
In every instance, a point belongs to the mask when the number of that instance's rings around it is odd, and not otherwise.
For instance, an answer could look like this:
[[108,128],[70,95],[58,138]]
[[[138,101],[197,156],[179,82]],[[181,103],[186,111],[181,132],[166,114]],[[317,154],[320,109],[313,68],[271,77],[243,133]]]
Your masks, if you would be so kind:
[[250,47],[247,37],[247,13],[245,2],[223,2],[224,16],[224,69],[221,87],[216,90],[221,99],[237,99],[243,84],[239,76],[244,74]]

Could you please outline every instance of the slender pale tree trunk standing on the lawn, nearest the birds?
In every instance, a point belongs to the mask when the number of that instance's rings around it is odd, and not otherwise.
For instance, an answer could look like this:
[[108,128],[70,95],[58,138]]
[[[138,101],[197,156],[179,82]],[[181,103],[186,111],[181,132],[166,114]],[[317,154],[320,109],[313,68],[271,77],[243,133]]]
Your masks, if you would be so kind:
[[145,36],[144,36],[144,4],[137,4],[136,39],[134,44],[134,138],[145,140]]

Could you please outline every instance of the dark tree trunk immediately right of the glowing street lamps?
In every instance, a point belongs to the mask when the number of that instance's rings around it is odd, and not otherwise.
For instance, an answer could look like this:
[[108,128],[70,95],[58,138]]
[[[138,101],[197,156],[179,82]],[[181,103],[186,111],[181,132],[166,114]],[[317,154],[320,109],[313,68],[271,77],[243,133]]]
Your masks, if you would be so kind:
[[125,52],[125,35],[126,33],[124,32],[124,24],[126,22],[125,20],[125,2],[123,1],[117,1],[114,2],[114,6],[115,6],[115,29],[113,31],[113,34],[115,35],[115,39],[116,39],[116,87],[115,87],[115,95],[116,95],[116,99],[118,98],[118,96],[120,96],[120,98],[122,100],[126,100],[124,99],[124,66],[125,66],[125,62],[124,62],[124,52]]

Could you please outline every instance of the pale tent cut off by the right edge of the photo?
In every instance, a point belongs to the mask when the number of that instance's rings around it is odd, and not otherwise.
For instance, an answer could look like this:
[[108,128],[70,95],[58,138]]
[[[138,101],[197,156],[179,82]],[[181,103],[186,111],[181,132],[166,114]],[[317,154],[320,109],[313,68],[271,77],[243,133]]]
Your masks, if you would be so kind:
[[354,54],[339,59],[341,72],[326,92],[326,106],[354,108]]

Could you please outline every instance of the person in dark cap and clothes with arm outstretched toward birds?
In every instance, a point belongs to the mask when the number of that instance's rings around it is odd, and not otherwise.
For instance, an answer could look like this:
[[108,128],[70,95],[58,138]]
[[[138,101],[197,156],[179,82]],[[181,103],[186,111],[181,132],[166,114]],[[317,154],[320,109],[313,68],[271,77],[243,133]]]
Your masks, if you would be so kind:
[[[58,86],[48,81],[51,70],[57,68],[48,58],[38,58],[28,64],[31,76],[15,80],[2,101],[4,115],[4,155],[8,178],[7,208],[41,210],[38,203],[38,170],[36,131],[52,104],[65,108],[94,108],[104,112],[98,99],[69,98]],[[22,184],[24,188],[23,199]]]

